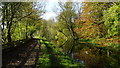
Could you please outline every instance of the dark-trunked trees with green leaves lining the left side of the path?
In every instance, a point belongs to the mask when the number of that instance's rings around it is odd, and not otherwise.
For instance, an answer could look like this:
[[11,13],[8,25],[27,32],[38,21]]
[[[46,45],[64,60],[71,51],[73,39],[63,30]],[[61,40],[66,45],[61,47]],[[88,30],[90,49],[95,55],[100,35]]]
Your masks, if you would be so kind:
[[[35,25],[41,20],[42,7],[34,8],[32,2],[2,3],[2,41],[11,42],[27,39],[35,32]],[[26,36],[26,37],[25,37]]]

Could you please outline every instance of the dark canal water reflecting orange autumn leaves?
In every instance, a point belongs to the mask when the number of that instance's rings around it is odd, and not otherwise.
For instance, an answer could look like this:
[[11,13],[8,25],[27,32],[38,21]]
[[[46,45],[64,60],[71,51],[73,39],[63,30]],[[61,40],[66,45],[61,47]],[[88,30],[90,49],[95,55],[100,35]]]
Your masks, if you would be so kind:
[[[72,45],[73,42],[68,40],[63,51],[67,53]],[[74,42],[70,56],[87,68],[120,68],[120,51],[97,46],[100,45],[89,42]]]

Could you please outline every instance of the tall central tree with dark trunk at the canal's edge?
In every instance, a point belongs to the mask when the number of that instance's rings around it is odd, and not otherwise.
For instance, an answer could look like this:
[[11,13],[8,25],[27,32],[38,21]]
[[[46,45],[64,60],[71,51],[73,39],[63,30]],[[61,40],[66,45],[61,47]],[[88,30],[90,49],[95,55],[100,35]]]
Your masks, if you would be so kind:
[[64,5],[61,5],[61,9],[63,9],[63,11],[61,11],[58,20],[60,23],[63,23],[66,27],[66,29],[68,29],[68,31],[71,34],[72,39],[75,38],[75,32],[74,32],[74,23],[72,22],[72,18],[77,16],[75,13],[75,9],[73,8],[74,3],[72,2],[66,2]]

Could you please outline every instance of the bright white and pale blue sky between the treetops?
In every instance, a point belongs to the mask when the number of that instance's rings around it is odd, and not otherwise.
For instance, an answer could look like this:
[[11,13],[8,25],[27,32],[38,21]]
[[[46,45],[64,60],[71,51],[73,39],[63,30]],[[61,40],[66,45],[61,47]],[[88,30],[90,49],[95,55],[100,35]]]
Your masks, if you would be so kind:
[[[61,0],[61,1],[65,2],[66,0]],[[74,0],[71,0],[71,1],[74,1]],[[47,2],[45,7],[46,13],[42,16],[42,18],[46,20],[54,19],[56,21],[56,17],[58,15],[56,11],[59,11],[58,2],[60,2],[60,0],[47,0],[46,2]]]

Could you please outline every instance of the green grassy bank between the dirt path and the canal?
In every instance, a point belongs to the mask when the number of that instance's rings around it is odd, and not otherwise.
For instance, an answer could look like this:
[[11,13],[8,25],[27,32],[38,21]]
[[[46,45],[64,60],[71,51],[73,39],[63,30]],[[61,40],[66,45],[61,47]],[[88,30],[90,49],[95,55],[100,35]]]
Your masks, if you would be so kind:
[[63,66],[65,68],[83,67],[82,64],[75,63],[74,60],[72,60],[70,57],[65,56],[62,52],[60,52],[59,48],[57,48],[50,42],[40,40],[40,43],[42,43],[41,51],[43,52],[43,54],[40,55],[39,57],[39,60],[36,65],[37,68],[40,68],[40,67],[50,68],[52,66],[59,66],[59,67]]

